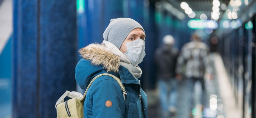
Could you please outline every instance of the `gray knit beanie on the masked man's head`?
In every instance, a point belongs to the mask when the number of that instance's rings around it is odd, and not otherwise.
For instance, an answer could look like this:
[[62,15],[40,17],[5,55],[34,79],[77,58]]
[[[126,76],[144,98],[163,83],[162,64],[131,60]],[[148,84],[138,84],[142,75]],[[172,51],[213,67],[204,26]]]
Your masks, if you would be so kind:
[[103,38],[120,49],[126,36],[135,28],[141,28],[144,31],[142,26],[131,18],[111,19],[103,33]]

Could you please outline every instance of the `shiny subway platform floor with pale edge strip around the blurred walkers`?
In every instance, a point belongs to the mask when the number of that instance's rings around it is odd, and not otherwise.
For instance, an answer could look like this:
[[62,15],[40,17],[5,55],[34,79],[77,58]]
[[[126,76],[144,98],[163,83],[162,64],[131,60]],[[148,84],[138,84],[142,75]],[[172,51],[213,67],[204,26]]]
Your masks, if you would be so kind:
[[[190,118],[189,98],[194,97],[195,108],[192,110],[193,118],[240,118],[242,108],[236,102],[233,90],[227,76],[223,60],[219,53],[210,54],[214,78],[205,77],[206,106],[201,112],[199,96],[202,92],[200,82],[195,83],[194,96],[187,96],[186,79],[179,82],[177,113],[173,118]],[[148,118],[161,118],[161,109],[158,89],[146,91],[148,95]]]

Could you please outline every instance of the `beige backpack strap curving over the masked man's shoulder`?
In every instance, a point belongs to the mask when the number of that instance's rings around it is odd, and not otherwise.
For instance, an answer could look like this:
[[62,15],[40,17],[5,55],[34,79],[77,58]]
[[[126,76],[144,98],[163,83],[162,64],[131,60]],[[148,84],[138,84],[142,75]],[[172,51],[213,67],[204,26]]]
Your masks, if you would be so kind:
[[111,77],[113,77],[113,78],[118,82],[118,84],[119,84],[119,86],[120,86],[120,88],[121,88],[121,90],[122,90],[122,92],[123,92],[123,98],[124,98],[124,100],[125,100],[125,95],[127,95],[127,93],[126,93],[126,91],[125,91],[125,87],[124,87],[124,85],[122,84],[121,80],[120,80],[117,76],[115,76],[115,75],[112,75],[112,74],[109,74],[109,73],[102,73],[102,74],[99,74],[99,75],[95,76],[95,77],[92,79],[92,81],[90,82],[90,84],[89,84],[88,87],[86,88],[86,90],[85,90],[85,92],[84,92],[84,96],[82,97],[82,99],[80,100],[80,102],[83,102],[83,101],[85,100],[86,93],[87,93],[88,89],[91,87],[93,81],[96,80],[98,77],[103,76],[103,75],[111,76]]

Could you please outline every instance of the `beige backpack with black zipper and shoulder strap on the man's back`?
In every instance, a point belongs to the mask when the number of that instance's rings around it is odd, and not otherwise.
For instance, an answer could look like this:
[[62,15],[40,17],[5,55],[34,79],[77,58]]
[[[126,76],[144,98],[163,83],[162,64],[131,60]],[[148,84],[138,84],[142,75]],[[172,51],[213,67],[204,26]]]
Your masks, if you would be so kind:
[[[90,82],[90,84],[88,85],[88,87],[86,88],[84,95],[82,95],[79,92],[76,91],[66,91],[56,102],[55,104],[55,108],[57,110],[57,118],[83,118],[84,117],[84,113],[83,113],[83,105],[84,105],[84,99],[85,99],[85,95],[88,91],[88,89],[90,88],[90,86],[92,85],[93,81],[96,80],[99,76],[102,75],[108,75],[113,77],[115,80],[117,80],[122,92],[123,92],[123,98],[125,100],[125,95],[127,95],[126,91],[125,91],[125,87],[122,84],[121,80],[112,74],[108,74],[108,73],[103,73],[103,74],[99,74],[96,77],[93,78],[93,80]],[[64,98],[68,96],[72,99],[69,99],[67,101],[64,102]]]

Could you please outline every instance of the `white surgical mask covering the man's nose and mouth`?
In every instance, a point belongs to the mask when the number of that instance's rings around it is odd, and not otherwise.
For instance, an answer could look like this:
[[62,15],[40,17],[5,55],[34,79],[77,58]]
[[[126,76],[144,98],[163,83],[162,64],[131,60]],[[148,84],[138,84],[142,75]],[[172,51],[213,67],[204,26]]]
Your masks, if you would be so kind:
[[126,44],[127,51],[124,55],[128,58],[128,60],[132,63],[133,66],[137,66],[142,62],[145,54],[145,41],[142,39],[134,40],[131,42],[127,42]]

